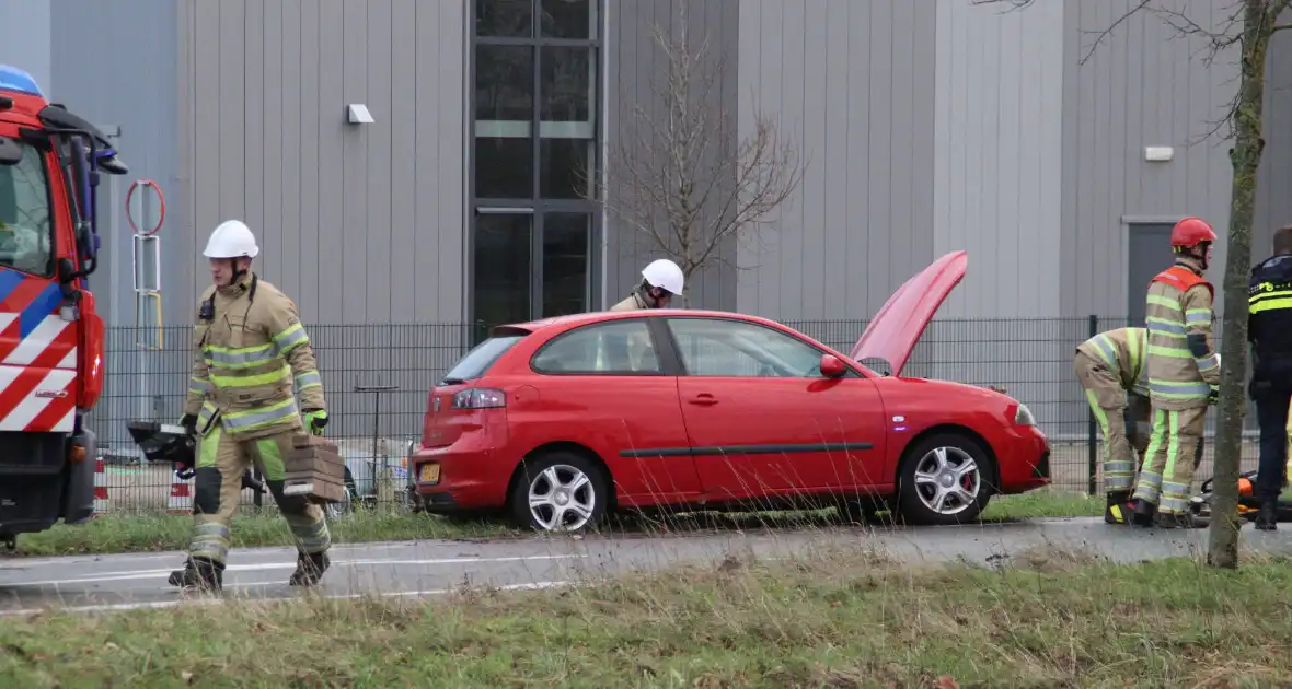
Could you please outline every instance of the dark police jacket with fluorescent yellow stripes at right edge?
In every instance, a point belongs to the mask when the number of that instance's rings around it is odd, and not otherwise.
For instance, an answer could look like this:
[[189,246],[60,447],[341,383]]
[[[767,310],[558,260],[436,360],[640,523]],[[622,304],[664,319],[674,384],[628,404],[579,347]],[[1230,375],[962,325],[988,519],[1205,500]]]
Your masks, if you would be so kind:
[[1292,255],[1273,255],[1252,268],[1247,339],[1253,391],[1262,386],[1292,390]]

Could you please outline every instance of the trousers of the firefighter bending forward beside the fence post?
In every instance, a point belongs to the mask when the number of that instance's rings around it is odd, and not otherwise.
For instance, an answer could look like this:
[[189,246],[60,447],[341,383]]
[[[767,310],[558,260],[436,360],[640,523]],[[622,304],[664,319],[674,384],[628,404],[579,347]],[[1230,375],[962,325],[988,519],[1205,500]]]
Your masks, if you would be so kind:
[[[1109,493],[1128,492],[1134,484],[1136,450],[1145,449],[1143,434],[1134,431],[1136,426],[1149,421],[1147,408],[1142,404],[1128,406],[1121,382],[1099,359],[1078,351],[1072,369],[1103,434],[1103,489]],[[1140,441],[1133,443],[1132,437]]]

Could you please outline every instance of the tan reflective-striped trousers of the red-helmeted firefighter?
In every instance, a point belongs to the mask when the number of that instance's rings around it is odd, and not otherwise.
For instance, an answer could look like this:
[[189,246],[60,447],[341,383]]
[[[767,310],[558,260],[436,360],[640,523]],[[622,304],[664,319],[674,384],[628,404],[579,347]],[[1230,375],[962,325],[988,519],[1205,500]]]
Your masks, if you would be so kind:
[[1145,453],[1134,499],[1158,506],[1160,514],[1189,511],[1189,486],[1202,459],[1205,406],[1152,410],[1152,437]]

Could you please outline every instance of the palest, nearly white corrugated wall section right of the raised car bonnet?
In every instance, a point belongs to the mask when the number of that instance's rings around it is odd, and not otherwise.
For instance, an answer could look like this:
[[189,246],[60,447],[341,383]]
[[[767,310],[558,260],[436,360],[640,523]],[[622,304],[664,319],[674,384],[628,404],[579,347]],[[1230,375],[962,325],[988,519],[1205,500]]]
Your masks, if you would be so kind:
[[939,0],[934,254],[969,272],[939,316],[1053,317],[1059,255],[1063,12]]

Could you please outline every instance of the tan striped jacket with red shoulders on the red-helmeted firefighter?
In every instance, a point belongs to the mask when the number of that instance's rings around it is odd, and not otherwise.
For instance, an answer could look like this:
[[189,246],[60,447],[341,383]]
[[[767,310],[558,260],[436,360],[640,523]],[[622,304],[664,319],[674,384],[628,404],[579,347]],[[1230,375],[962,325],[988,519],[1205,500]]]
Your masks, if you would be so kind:
[[1193,258],[1177,258],[1150,283],[1145,325],[1154,409],[1178,412],[1211,404],[1212,386],[1220,384],[1220,359],[1211,344],[1213,298],[1214,288]]

